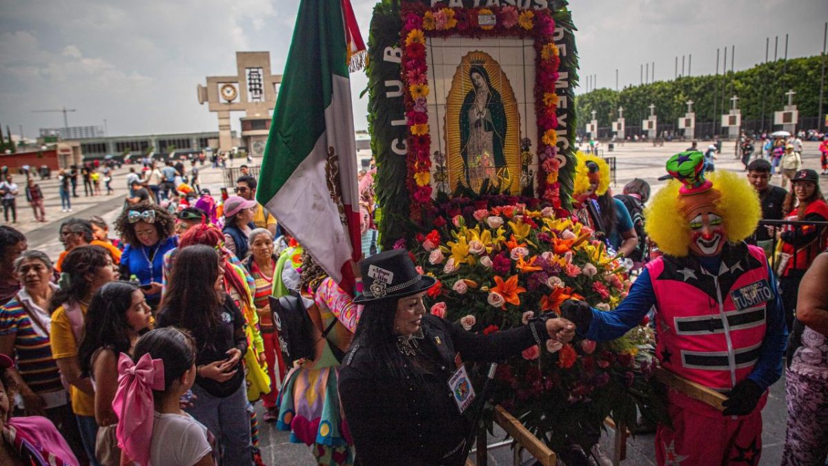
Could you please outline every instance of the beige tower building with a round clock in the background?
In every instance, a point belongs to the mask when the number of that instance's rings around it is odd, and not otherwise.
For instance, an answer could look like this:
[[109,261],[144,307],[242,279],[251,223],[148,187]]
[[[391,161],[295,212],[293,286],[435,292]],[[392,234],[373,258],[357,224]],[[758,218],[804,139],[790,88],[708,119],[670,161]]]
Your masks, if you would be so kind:
[[207,85],[198,86],[199,103],[219,116],[220,151],[233,147],[230,112],[244,112],[242,144],[249,153],[262,156],[282,75],[272,75],[267,51],[237,51],[236,70],[236,75],[208,76]]

